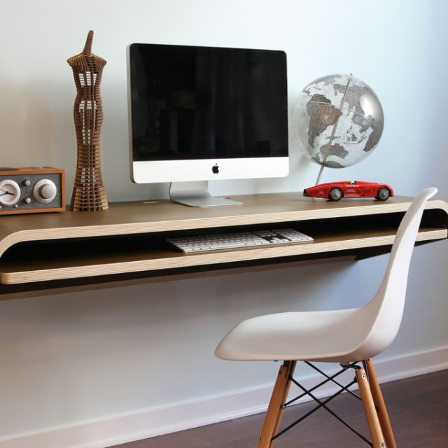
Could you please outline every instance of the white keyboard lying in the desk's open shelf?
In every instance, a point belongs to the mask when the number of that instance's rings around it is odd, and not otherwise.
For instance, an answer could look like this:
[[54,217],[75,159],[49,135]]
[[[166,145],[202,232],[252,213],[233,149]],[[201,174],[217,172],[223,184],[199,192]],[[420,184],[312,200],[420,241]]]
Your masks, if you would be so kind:
[[307,243],[308,235],[293,229],[225,232],[216,235],[170,238],[167,241],[184,253],[216,251],[238,247],[268,246],[269,244]]

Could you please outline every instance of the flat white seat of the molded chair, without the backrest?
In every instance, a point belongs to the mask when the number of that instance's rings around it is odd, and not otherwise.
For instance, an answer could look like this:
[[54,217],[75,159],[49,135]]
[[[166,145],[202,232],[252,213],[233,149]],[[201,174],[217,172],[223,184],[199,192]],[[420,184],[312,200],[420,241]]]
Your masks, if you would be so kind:
[[[308,360],[351,362],[366,335],[363,308],[268,314],[250,318],[230,330],[216,347],[228,360]],[[370,321],[370,319],[368,319]],[[367,353],[369,354],[369,353]],[[372,356],[377,353],[372,353]],[[363,356],[363,358],[360,358]]]

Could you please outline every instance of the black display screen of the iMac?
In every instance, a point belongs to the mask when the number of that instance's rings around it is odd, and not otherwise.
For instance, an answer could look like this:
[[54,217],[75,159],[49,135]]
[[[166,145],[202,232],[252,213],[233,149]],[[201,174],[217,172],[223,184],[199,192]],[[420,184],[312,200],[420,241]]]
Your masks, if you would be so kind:
[[133,43],[129,57],[134,161],[288,155],[285,52]]

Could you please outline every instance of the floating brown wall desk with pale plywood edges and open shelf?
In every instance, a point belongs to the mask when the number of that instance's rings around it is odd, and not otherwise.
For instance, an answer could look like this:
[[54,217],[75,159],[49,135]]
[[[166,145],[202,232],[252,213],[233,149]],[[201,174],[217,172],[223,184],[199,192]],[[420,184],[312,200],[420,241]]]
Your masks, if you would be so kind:
[[[10,299],[293,265],[390,251],[411,197],[328,202],[302,193],[246,195],[242,205],[190,208],[169,201],[117,202],[94,212],[0,217],[0,298]],[[217,228],[297,228],[313,243],[183,254],[176,233]],[[417,244],[447,238],[448,204],[429,201]],[[235,271],[236,269],[236,271]]]

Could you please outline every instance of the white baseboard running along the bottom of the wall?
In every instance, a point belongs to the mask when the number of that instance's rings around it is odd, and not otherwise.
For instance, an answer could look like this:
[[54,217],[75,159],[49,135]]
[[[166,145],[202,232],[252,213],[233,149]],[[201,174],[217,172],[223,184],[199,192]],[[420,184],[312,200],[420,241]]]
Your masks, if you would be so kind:
[[[381,360],[381,383],[448,368],[448,347]],[[312,379],[311,379],[312,381]],[[310,382],[311,382],[310,381]],[[304,381],[306,386],[307,380]],[[0,440],[0,448],[104,448],[265,411],[272,386]],[[321,393],[326,395],[331,389]],[[248,407],[248,403],[250,406]]]

